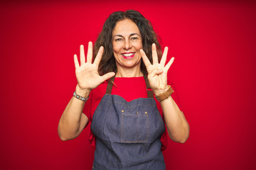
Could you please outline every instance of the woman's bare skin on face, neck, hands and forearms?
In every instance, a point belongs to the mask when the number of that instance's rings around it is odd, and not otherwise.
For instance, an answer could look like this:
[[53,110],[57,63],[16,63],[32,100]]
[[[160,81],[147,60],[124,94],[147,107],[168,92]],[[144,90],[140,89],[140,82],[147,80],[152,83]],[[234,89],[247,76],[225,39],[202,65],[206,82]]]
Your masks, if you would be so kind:
[[[149,62],[145,52],[142,50],[142,38],[137,25],[129,20],[124,19],[117,22],[112,32],[112,45],[114,58],[117,64],[116,77],[142,77],[140,64],[143,61],[146,70],[149,73],[149,85],[156,96],[168,89],[167,72],[174,62],[174,57],[166,64],[168,47],[165,47],[161,61],[157,60],[156,45],[152,45],[153,64]],[[78,95],[87,97],[92,89],[95,89],[103,81],[114,76],[114,72],[107,73],[103,76],[97,72],[102,57],[103,47],[97,52],[95,61],[92,63],[92,42],[88,44],[87,60],[85,61],[85,52],[83,45],[80,45],[80,64],[77,55],[74,55],[75,75],[78,84],[75,91]],[[134,54],[133,57],[127,57],[124,52]],[[180,111],[171,96],[161,101],[161,108],[164,112],[164,120],[166,128],[171,140],[175,142],[186,142],[189,135],[189,125],[185,116]],[[84,101],[80,101],[75,97],[70,99],[68,106],[65,108],[63,115],[58,124],[58,135],[61,140],[72,140],[80,135],[80,132],[88,123],[88,118],[82,114],[85,105]]]

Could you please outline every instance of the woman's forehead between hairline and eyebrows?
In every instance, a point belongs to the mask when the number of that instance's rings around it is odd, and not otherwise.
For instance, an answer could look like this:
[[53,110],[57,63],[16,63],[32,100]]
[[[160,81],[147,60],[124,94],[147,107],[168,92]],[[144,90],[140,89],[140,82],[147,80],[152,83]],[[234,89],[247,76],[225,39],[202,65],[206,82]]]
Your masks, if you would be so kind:
[[130,35],[132,33],[137,33],[140,35],[138,26],[136,25],[136,23],[134,23],[134,21],[130,19],[124,19],[122,21],[117,22],[112,32],[112,36],[114,35],[125,36],[125,35]]

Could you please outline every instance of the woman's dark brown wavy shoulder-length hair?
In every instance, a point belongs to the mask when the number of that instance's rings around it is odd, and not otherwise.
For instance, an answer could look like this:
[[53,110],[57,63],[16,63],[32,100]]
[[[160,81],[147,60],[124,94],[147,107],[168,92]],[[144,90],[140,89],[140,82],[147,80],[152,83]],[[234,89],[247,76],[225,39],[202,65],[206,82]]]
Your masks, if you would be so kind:
[[[152,51],[151,45],[153,43],[156,44],[157,55],[159,60],[161,60],[161,45],[159,44],[159,37],[154,32],[151,23],[149,20],[144,18],[141,13],[134,10],[128,11],[117,11],[107,18],[105,21],[102,32],[98,36],[95,45],[94,45],[94,54],[93,60],[95,59],[100,46],[104,47],[104,52],[102,55],[102,60],[100,61],[99,65],[99,73],[100,75],[106,74],[107,72],[116,72],[117,65],[114,59],[113,54],[113,47],[112,47],[112,31],[116,26],[118,21],[122,21],[124,19],[130,19],[136,23],[137,27],[139,28],[139,32],[142,35],[142,46],[143,50],[146,53],[146,56],[149,58],[149,61],[152,63]],[[141,62],[141,70],[144,74],[147,74],[146,67],[144,62]]]

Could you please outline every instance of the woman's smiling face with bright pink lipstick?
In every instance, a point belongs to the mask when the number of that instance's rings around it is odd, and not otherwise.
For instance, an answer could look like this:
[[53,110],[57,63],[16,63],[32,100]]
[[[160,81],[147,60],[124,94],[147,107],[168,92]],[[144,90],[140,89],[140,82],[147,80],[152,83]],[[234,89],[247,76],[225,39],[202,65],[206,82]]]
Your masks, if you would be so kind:
[[139,28],[130,19],[118,21],[112,32],[112,45],[117,69],[139,67],[142,56],[142,36]]

